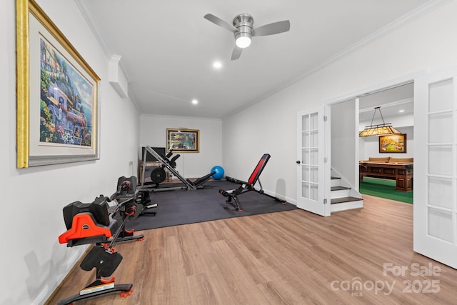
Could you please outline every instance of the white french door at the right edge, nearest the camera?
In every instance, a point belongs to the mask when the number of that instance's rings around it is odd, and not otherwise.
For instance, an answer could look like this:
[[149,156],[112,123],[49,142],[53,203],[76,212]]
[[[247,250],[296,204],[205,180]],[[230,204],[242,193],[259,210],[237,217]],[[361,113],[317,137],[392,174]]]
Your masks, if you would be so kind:
[[457,269],[457,69],[414,82],[414,251]]

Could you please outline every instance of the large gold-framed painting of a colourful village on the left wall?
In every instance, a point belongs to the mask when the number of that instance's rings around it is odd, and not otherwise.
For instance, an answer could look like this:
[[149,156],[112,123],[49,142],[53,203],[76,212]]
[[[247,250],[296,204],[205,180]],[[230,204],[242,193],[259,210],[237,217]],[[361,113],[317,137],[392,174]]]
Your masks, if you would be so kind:
[[34,0],[16,1],[17,168],[99,159],[99,76]]

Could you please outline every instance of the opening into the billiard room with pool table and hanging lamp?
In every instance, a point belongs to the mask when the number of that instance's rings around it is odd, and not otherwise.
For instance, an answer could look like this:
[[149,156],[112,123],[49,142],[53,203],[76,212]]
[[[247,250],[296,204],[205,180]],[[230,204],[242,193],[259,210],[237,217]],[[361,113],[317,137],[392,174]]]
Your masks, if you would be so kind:
[[359,131],[376,120],[373,114],[380,107],[386,124],[401,132],[400,136],[359,137],[360,193],[413,204],[414,84],[363,95],[358,105]]

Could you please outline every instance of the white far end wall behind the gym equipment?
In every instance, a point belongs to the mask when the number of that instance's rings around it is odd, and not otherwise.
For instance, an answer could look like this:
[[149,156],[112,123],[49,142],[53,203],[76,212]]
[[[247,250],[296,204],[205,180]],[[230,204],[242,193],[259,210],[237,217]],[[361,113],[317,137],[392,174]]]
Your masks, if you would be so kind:
[[[222,121],[182,116],[140,116],[140,146],[166,147],[166,129],[198,129],[199,153],[179,153],[176,170],[185,178],[209,174],[215,165],[222,165]],[[176,153],[178,154],[178,153]],[[141,151],[139,150],[139,158]]]

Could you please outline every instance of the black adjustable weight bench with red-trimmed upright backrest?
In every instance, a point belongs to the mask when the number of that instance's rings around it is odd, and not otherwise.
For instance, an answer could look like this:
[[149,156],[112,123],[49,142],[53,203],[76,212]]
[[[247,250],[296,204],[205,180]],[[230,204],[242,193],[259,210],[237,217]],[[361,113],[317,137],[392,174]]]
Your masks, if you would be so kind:
[[[264,154],[260,161],[258,161],[258,164],[256,166],[256,168],[253,170],[251,176],[249,177],[248,179],[248,182],[246,181],[241,181],[241,180],[238,180],[238,179],[234,179],[234,178],[231,178],[229,176],[226,176],[226,180],[227,181],[230,181],[230,182],[233,182],[233,183],[236,183],[236,184],[241,184],[238,189],[231,189],[231,190],[224,190],[224,189],[219,189],[219,193],[225,197],[229,197],[227,199],[227,204],[230,204],[231,206],[233,206],[236,211],[243,211],[243,206],[241,206],[241,203],[238,199],[238,195],[241,195],[243,193],[246,193],[248,191],[256,191],[257,193],[259,194],[262,194],[262,195],[265,195],[265,196],[268,196],[268,197],[271,197],[277,201],[281,201],[282,204],[286,204],[287,202],[282,200],[282,199],[278,199],[274,196],[271,196],[271,195],[268,195],[268,194],[265,194],[263,192],[263,188],[262,188],[262,184],[260,182],[260,179],[258,179],[258,177],[260,176],[260,174],[262,173],[263,171],[263,168],[265,168],[266,166],[266,163],[268,162],[268,159],[270,159],[270,155],[269,154]],[[260,186],[260,189],[255,189],[254,186],[256,185],[256,182],[258,181],[258,184]],[[232,202],[232,199],[233,199],[233,202]]]

